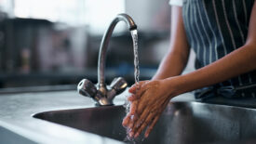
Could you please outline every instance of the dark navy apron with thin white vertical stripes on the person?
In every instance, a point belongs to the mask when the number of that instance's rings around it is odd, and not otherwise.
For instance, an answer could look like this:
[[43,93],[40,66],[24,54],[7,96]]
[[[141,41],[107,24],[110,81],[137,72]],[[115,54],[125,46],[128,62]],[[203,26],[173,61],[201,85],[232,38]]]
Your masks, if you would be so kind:
[[[195,50],[195,68],[222,59],[243,46],[255,0],[183,0],[182,19],[189,45]],[[255,97],[256,71],[195,91],[195,98]]]

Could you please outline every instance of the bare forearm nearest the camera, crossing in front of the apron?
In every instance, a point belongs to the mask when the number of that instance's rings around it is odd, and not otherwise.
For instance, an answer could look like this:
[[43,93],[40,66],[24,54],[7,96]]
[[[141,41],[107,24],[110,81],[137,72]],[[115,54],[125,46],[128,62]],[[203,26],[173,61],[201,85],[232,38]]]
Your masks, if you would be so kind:
[[208,85],[214,85],[239,74],[255,70],[255,63],[256,46],[240,47],[204,68],[175,77],[177,79],[177,95]]

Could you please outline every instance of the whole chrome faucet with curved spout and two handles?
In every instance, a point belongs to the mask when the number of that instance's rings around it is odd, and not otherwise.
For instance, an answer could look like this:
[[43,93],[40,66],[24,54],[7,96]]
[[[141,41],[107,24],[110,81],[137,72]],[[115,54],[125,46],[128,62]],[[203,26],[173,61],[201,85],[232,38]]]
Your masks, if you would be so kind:
[[128,86],[126,80],[122,77],[115,78],[111,85],[105,84],[105,59],[106,50],[109,44],[115,25],[119,21],[125,21],[128,25],[129,31],[136,30],[137,26],[134,21],[127,14],[119,14],[112,20],[107,31],[104,33],[101,40],[101,47],[98,59],[98,84],[94,85],[88,79],[83,79],[77,85],[79,94],[93,98],[97,105],[113,105],[113,99],[116,95],[122,93]]

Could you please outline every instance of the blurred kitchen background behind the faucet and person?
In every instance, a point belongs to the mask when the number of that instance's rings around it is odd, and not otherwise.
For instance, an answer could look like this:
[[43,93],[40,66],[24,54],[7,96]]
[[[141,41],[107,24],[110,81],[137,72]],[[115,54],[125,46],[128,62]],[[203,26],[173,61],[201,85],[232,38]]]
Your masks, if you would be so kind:
[[[0,89],[97,83],[101,38],[118,13],[138,25],[141,80],[150,79],[168,50],[168,0],[0,0]],[[106,81],[134,83],[132,40],[118,23],[108,47]],[[67,86],[69,85],[69,86]]]

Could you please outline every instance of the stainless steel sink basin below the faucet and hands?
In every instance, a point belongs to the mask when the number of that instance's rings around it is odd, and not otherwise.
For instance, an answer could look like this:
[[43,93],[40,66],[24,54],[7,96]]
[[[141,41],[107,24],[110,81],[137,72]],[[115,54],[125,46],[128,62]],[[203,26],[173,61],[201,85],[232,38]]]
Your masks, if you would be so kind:
[[[123,106],[46,111],[34,118],[120,141],[126,138]],[[218,143],[256,137],[256,110],[199,102],[168,104],[150,136],[141,143]]]

